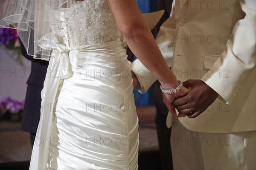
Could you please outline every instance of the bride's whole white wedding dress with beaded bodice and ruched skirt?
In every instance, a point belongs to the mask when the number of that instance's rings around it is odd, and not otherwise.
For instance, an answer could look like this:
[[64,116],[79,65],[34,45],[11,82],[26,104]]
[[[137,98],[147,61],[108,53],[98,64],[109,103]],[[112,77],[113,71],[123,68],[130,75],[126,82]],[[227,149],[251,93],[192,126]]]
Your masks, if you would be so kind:
[[77,2],[52,17],[60,38],[41,45],[54,50],[30,169],[138,169],[131,67],[106,1]]

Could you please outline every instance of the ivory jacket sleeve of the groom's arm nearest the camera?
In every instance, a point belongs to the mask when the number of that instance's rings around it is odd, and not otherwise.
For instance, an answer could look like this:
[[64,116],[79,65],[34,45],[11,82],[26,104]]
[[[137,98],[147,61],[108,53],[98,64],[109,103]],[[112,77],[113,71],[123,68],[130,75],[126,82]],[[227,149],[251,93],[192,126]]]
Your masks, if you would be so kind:
[[[227,49],[212,66],[211,73],[201,79],[228,104],[233,102],[243,83],[254,71],[256,63],[256,1],[240,0],[240,6],[245,17],[234,26]],[[228,74],[220,76],[217,72]]]

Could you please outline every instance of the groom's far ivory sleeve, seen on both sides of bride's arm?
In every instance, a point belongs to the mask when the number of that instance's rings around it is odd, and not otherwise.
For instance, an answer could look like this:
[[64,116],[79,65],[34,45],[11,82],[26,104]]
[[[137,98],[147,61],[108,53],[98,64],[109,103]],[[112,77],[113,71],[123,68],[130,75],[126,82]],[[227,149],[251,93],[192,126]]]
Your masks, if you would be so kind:
[[[172,66],[173,57],[173,41],[172,35],[175,34],[175,12],[172,12],[171,16],[160,27],[160,31],[157,34],[156,42],[163,54],[166,63],[169,67]],[[148,88],[157,80],[157,78],[151,74],[151,72],[140,62],[139,59],[135,59],[132,63],[132,71],[137,76],[140,86],[137,90],[140,93],[145,93]]]

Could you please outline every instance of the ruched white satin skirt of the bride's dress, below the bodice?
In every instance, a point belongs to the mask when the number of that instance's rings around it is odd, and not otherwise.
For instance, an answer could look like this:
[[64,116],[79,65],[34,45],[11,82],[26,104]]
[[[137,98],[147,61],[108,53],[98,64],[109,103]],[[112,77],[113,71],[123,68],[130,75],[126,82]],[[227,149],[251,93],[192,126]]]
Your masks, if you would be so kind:
[[122,43],[71,50],[69,62],[73,73],[59,83],[49,122],[47,169],[138,169],[138,117]]

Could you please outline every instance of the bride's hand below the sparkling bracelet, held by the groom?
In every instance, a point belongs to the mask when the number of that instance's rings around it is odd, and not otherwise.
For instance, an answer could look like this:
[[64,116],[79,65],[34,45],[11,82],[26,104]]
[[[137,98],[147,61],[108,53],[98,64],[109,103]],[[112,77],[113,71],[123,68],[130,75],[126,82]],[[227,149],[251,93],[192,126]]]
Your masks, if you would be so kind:
[[[172,102],[175,101],[175,99],[185,96],[188,93],[189,89],[185,88],[184,86],[177,91],[176,94],[164,94],[163,93],[163,102],[168,108],[168,110],[172,113],[172,116],[176,116],[175,108],[172,105]],[[179,115],[180,117],[184,117],[183,115]],[[186,115],[185,115],[186,116]]]

